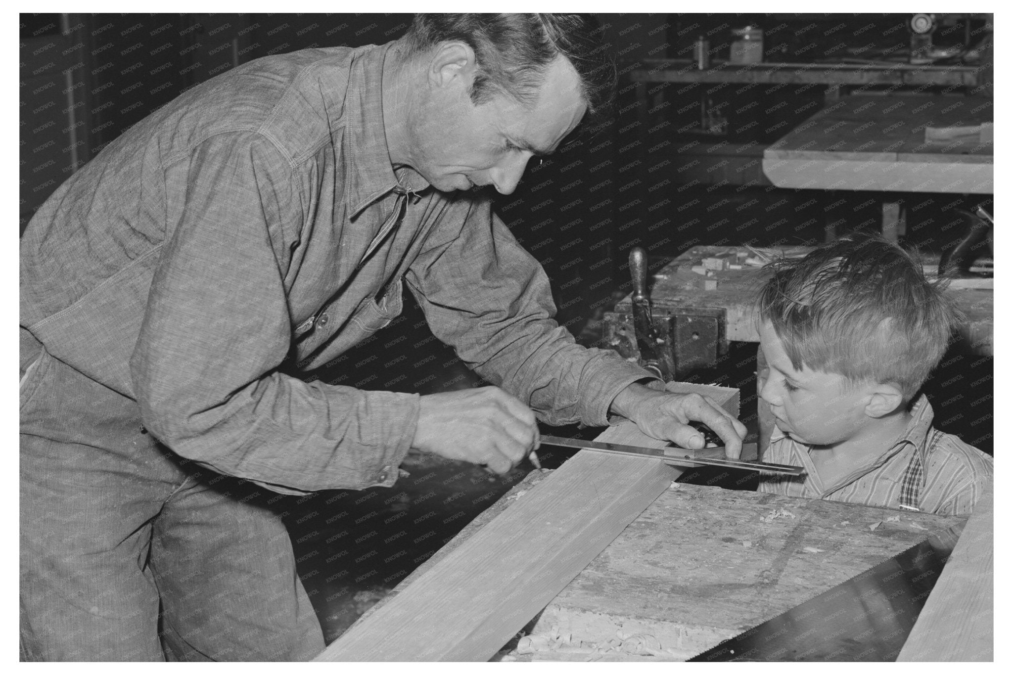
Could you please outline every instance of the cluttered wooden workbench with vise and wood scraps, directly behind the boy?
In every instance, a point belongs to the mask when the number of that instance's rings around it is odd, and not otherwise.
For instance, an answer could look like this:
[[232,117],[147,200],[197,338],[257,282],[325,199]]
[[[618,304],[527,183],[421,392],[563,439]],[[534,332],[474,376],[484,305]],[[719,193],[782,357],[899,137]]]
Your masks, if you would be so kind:
[[[786,255],[804,254],[805,247],[777,247],[763,249],[783,252]],[[677,257],[654,274],[650,300],[654,313],[682,308],[715,308],[725,311],[724,335],[727,340],[759,342],[755,316],[755,301],[767,273],[758,268],[716,272],[713,277],[717,288],[704,290],[694,282],[701,277],[691,271],[704,258],[748,252],[736,246],[695,246]],[[927,263],[938,264],[937,258],[926,258]],[[993,354],[994,294],[990,289],[951,288],[947,292],[957,302],[966,315],[960,326],[962,346],[970,353]],[[629,297],[616,305],[616,312],[630,312]],[[634,343],[631,343],[634,344]]]

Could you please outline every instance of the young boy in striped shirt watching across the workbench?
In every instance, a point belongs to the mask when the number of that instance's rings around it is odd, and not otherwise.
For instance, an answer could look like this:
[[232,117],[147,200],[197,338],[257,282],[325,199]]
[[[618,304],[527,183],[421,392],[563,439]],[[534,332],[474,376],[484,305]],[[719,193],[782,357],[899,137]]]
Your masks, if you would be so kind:
[[933,429],[928,399],[915,398],[958,316],[939,285],[902,248],[868,235],[771,266],[758,391],[776,428],[763,459],[806,473],[762,476],[759,490],[969,514],[992,457]]

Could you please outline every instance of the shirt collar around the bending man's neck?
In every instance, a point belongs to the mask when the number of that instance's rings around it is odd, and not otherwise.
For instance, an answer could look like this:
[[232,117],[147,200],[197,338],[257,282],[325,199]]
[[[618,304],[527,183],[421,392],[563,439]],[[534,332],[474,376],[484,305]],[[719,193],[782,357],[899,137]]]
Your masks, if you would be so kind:
[[383,118],[383,68],[395,43],[364,49],[353,57],[344,94],[343,151],[350,154],[344,171],[344,189],[350,216],[391,190],[417,193],[430,183],[414,169],[390,164]]

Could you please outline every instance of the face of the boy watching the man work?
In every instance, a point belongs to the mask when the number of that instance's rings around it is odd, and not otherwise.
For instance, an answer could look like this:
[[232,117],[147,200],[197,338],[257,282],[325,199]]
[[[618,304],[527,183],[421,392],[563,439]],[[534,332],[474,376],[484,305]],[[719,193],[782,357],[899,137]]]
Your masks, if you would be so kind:
[[760,397],[770,404],[781,431],[809,445],[837,445],[868,422],[868,387],[805,365],[796,370],[770,322],[760,326],[760,348],[768,367],[760,372]]

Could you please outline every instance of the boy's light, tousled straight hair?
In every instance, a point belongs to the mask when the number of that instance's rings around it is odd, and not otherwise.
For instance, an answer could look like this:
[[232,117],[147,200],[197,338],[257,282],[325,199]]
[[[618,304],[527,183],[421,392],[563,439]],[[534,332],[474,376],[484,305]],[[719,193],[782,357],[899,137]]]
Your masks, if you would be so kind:
[[917,255],[882,237],[851,234],[800,259],[771,262],[760,294],[791,364],[872,381],[914,398],[946,351],[960,313],[929,282]]

